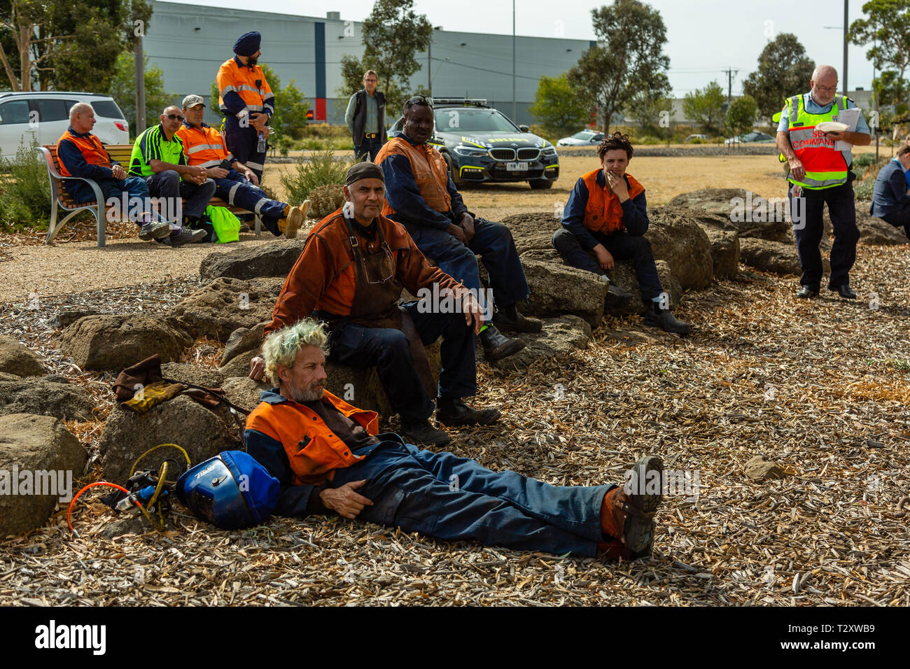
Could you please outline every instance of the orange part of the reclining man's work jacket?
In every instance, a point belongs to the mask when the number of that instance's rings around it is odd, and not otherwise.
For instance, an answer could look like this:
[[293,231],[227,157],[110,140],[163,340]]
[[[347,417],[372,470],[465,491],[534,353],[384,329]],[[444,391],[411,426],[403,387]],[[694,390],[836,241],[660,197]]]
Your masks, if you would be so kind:
[[[368,434],[379,433],[376,411],[359,410],[329,390],[324,391],[323,401],[328,401]],[[316,411],[296,401],[261,402],[247,417],[247,429],[260,431],[281,442],[294,471],[294,485],[319,485],[331,480],[335,470],[360,461],[359,456],[351,453],[345,442],[329,430]]]

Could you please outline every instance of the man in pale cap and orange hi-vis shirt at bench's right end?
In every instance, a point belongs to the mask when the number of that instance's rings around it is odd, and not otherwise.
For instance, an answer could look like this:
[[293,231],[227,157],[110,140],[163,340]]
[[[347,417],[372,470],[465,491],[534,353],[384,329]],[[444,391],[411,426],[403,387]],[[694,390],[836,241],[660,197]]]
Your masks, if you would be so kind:
[[186,120],[177,130],[177,137],[183,142],[189,164],[205,168],[208,177],[215,180],[215,195],[228,205],[258,214],[275,237],[283,232],[288,239],[296,238],[300,224],[307,218],[309,200],[300,207],[291,207],[287,202],[268,198],[265,191],[258,188],[256,173],[227,151],[221,133],[202,122],[205,110],[201,96],[183,98]]

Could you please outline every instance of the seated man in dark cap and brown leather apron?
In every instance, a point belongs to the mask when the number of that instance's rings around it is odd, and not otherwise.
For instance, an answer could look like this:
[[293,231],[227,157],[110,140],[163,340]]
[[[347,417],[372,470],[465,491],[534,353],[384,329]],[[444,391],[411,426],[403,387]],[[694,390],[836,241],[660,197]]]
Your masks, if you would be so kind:
[[[333,362],[376,366],[410,440],[448,443],[449,435],[427,421],[433,412],[430,393],[436,396],[437,389],[423,344],[442,337],[436,420],[445,425],[499,420],[499,411],[471,409],[463,401],[477,392],[475,350],[482,310],[476,294],[430,267],[408,231],[381,215],[384,189],[379,166],[359,163],[348,170],[348,201],[310,231],[265,334],[315,313],[332,329]],[[424,298],[399,308],[403,288],[437,298],[450,293],[454,299]],[[265,370],[265,360],[257,357],[249,375],[261,380]]]

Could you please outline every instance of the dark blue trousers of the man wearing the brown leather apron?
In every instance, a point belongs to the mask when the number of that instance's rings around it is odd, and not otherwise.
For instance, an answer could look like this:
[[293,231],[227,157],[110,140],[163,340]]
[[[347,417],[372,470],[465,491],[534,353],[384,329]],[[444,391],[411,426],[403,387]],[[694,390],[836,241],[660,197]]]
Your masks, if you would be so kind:
[[[477,392],[477,336],[462,313],[420,313],[418,302],[405,305],[424,344],[442,336],[439,394],[458,400]],[[332,332],[330,360],[352,367],[376,367],[392,409],[402,421],[426,421],[433,401],[424,390],[408,338],[394,328],[367,328],[348,323]]]

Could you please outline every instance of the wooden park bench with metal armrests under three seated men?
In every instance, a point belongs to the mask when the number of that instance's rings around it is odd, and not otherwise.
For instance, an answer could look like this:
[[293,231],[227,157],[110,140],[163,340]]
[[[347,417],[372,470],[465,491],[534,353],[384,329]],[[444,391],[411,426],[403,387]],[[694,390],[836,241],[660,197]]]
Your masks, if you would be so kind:
[[[129,157],[133,153],[132,144],[106,144],[105,149],[107,153],[110,154],[111,160],[126,166],[125,168],[129,167]],[[105,221],[109,208],[106,208],[105,206],[105,197],[101,192],[101,188],[92,179],[64,177],[60,174],[60,160],[56,155],[56,145],[45,145],[44,147],[37,147],[36,150],[40,151],[45,157],[47,163],[47,177],[51,182],[51,222],[47,227],[45,244],[50,244],[54,241],[56,234],[63,229],[66,225],[66,221],[70,218],[76,216],[80,211],[91,211],[92,215],[95,216],[98,229],[98,248],[103,248],[105,245]],[[95,200],[76,204],[73,198],[66,192],[67,181],[85,181],[86,184],[95,191]],[[213,207],[227,207],[235,214],[253,214],[255,216],[255,212],[249,211],[248,209],[230,207],[227,202],[221,198],[211,198],[208,201],[208,204]],[[58,210],[63,210],[66,213],[66,216],[59,223],[57,222]],[[122,212],[122,220],[126,220],[126,213],[126,211]],[[261,233],[261,230],[262,221],[256,216],[257,236]]]

